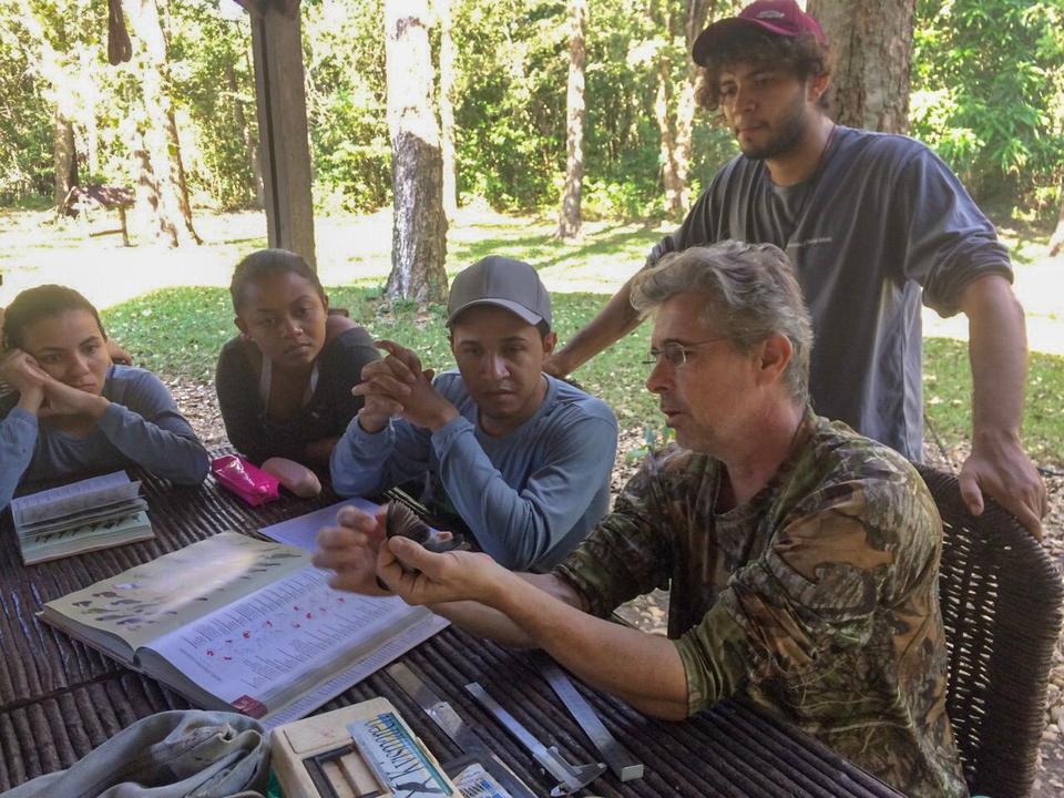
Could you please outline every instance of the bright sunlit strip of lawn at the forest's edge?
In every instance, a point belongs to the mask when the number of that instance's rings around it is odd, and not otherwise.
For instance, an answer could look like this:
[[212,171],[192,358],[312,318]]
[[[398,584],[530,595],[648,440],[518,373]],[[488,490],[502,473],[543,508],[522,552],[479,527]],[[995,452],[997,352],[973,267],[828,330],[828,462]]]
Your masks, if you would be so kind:
[[[0,304],[23,288],[61,283],[100,307],[176,286],[226,286],[246,254],[266,246],[260,214],[198,217],[204,245],[170,249],[134,238],[124,247],[114,237],[90,238],[106,219],[82,225],[48,212],[0,215]],[[646,259],[665,233],[642,224],[587,222],[584,239],[553,238],[554,222],[462,208],[448,235],[447,272],[453,275],[485,255],[528,260],[552,291],[612,291]],[[315,221],[318,274],[323,283],[376,287],[391,269],[391,214],[331,216]]]

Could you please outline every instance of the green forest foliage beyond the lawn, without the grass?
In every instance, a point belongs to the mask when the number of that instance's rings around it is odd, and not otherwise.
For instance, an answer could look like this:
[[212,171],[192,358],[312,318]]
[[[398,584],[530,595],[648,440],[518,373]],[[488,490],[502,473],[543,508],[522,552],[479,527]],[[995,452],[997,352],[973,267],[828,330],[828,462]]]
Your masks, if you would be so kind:
[[[125,3],[134,58],[117,66],[106,60],[103,0],[0,4],[0,206],[53,205],[73,183],[143,185],[160,126],[193,207],[260,202],[247,14],[232,0],[155,0],[155,22],[136,10],[142,4]],[[556,206],[566,167],[569,4],[436,4],[438,16],[448,11],[452,41],[444,79],[453,111],[442,122],[460,203],[482,200],[507,212]],[[682,214],[734,153],[712,115],[684,108],[684,21],[697,3],[585,4],[583,215]],[[709,18],[740,4],[702,3]],[[319,214],[391,203],[382,6],[301,3]],[[430,28],[437,63],[441,29]],[[1064,180],[1062,63],[1061,0],[919,0],[909,132],[981,204],[1050,224]],[[677,154],[686,158],[678,192],[669,184]]]

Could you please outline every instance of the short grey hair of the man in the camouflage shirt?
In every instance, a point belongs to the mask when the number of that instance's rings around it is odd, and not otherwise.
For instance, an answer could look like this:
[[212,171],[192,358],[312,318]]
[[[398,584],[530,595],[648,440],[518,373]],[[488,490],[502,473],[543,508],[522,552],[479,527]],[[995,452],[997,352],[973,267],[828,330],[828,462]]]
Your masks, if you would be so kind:
[[702,318],[737,351],[749,352],[774,332],[790,340],[785,378],[796,402],[809,399],[812,325],[790,260],[771,244],[724,241],[669,253],[636,275],[632,306],[643,316],[671,297],[709,294]]

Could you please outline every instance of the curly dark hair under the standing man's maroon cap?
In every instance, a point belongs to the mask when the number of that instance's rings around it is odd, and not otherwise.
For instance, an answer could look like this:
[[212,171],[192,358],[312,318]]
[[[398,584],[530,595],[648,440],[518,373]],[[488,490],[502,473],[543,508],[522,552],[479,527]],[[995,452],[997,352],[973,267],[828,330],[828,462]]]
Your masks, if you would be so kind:
[[[708,111],[720,108],[720,72],[737,63],[773,66],[792,72],[798,80],[831,74],[831,45],[804,33],[796,37],[774,35],[760,30],[739,31],[716,48],[703,62],[703,81],[698,104]],[[828,92],[818,104],[828,108]]]

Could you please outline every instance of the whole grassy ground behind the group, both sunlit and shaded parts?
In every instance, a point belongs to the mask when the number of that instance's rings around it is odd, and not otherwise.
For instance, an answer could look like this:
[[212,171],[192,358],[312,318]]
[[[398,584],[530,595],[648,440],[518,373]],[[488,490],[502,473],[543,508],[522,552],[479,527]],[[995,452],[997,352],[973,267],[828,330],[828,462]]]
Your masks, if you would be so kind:
[[[225,286],[244,254],[265,246],[260,214],[201,214],[201,247],[167,249],[139,242],[122,247],[114,237],[89,238],[92,227],[55,223],[50,214],[0,211],[0,304],[22,288],[62,283],[104,309],[109,331],[163,376],[208,381],[218,349],[235,331]],[[332,304],[380,337],[417,348],[433,368],[451,365],[438,308],[386,310],[380,286],[390,269],[391,218],[318,218],[318,272]],[[106,226],[106,219],[99,221]],[[99,226],[98,225],[98,226]],[[448,273],[489,254],[521,258],[540,269],[555,301],[564,341],[642,265],[669,225],[592,222],[584,239],[554,241],[552,218],[515,217],[482,207],[463,208],[448,235]],[[1032,346],[1024,438],[1043,466],[1064,464],[1064,257],[1046,257],[1048,231],[1000,225],[1016,266],[1015,289],[1027,314]],[[195,287],[190,287],[195,286]],[[930,430],[953,447],[968,436],[971,376],[963,317],[924,315],[924,399]],[[640,360],[648,327],[636,330],[574,377],[610,401],[628,429],[661,429],[654,397],[643,388]],[[1050,354],[1056,352],[1056,354]]]

